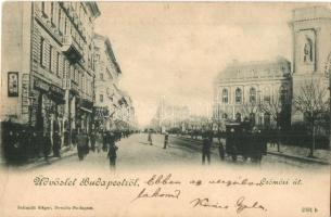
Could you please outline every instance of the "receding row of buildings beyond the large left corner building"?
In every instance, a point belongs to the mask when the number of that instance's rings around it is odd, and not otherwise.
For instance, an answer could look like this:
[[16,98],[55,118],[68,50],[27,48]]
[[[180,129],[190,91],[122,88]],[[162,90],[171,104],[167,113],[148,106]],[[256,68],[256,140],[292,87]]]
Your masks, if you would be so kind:
[[96,103],[97,128],[106,130],[136,127],[135,107],[128,93],[118,88],[122,77],[111,41],[96,34]]

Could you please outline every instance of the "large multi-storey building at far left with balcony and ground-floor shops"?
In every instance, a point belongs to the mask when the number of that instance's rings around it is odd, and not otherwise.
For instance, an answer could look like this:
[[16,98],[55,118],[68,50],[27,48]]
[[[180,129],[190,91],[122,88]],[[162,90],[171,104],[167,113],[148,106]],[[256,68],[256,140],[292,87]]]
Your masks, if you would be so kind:
[[93,103],[94,2],[3,4],[2,99],[5,116],[51,130],[89,129]]

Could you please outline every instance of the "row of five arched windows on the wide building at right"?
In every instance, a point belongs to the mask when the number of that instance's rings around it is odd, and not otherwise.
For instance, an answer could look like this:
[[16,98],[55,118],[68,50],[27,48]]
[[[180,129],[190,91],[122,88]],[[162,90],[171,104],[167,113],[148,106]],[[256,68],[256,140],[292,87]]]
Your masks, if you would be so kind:
[[[249,91],[249,102],[250,103],[256,103],[256,98],[257,98],[257,91],[255,88],[250,88]],[[284,87],[280,88],[280,100],[281,102],[284,102],[288,98],[288,90]],[[269,89],[266,89],[264,91],[264,101],[265,102],[270,102],[270,91]],[[235,104],[241,104],[243,101],[243,92],[241,88],[237,88],[234,91],[234,102]],[[229,103],[229,90],[228,89],[222,89],[221,91],[221,102],[225,104]]]

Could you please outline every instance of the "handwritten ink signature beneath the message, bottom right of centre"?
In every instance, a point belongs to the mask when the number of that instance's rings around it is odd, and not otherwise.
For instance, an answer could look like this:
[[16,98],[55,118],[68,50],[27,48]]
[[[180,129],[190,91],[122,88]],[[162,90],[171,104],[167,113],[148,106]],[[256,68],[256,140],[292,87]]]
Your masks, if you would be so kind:
[[[194,199],[190,202],[193,207],[202,206],[202,207],[211,207],[211,208],[221,208],[228,209],[230,205],[222,205],[219,202],[211,202],[209,199]],[[260,209],[267,212],[267,208],[259,204],[259,202],[255,201],[254,203],[246,203],[245,197],[241,196],[237,200],[233,207],[235,208],[237,214],[242,213],[245,209]]]

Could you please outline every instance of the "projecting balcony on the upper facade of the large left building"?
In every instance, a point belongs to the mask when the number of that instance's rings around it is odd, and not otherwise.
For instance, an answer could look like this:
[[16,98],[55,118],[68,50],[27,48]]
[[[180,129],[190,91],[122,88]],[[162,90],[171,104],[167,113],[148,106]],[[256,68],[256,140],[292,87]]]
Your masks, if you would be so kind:
[[62,52],[72,63],[77,63],[82,59],[82,49],[72,36],[64,36],[62,44]]

